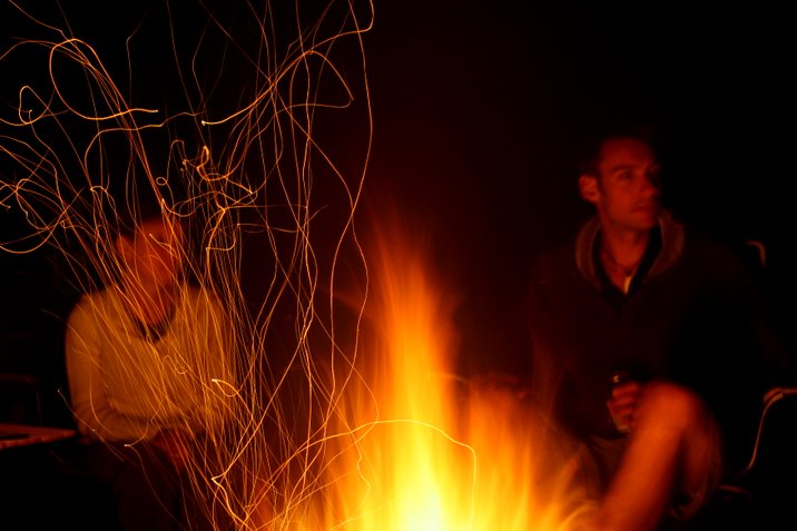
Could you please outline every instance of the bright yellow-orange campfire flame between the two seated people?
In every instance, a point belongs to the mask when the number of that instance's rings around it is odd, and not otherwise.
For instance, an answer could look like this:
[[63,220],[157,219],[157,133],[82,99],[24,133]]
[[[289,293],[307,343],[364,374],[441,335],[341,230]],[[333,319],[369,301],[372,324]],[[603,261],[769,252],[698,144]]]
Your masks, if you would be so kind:
[[375,338],[324,440],[324,481],[277,527],[574,529],[587,508],[575,454],[513,391],[451,375],[454,304],[417,246],[392,234],[378,247],[366,305]]

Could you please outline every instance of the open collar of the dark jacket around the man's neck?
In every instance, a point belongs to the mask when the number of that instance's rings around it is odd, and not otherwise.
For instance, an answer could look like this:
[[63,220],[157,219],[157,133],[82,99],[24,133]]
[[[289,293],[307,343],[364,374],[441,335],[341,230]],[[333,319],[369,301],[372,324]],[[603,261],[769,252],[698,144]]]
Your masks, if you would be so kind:
[[[659,216],[659,228],[661,230],[661,250],[643,283],[668,271],[683,254],[683,225],[678,223],[669,212],[662,210]],[[598,278],[592,249],[600,229],[600,220],[596,216],[584,224],[575,238],[575,267],[578,267],[581,276],[597,288],[600,288],[600,279]]]

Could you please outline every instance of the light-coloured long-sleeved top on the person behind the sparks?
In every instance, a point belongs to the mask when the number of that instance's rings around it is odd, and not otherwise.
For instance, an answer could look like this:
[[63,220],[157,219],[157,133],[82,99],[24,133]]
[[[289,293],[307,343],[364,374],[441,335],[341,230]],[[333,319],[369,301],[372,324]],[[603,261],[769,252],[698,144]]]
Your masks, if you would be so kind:
[[207,291],[181,286],[173,319],[147,340],[117,288],[85,295],[69,316],[67,373],[78,430],[136,442],[164,429],[213,432],[232,416],[232,324]]

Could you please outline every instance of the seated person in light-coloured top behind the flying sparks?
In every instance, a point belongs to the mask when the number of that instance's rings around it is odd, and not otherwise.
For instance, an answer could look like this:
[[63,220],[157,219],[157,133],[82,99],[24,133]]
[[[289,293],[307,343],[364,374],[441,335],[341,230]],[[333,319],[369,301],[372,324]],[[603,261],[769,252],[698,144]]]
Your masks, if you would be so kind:
[[105,264],[117,282],[85,295],[69,316],[73,415],[125,529],[196,529],[210,507],[196,498],[218,471],[194,458],[199,445],[219,444],[230,417],[230,323],[210,293],[183,281],[176,219],[158,209],[130,225]]

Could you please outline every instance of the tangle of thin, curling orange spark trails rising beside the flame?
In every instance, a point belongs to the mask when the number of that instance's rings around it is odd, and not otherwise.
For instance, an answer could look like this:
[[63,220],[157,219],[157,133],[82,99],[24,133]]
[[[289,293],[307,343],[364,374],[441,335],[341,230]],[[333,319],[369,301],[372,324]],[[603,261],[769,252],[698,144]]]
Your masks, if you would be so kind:
[[[354,89],[338,70],[337,48],[361,49],[371,6],[331,2],[305,19],[298,4],[278,13],[270,4],[248,4],[238,17],[248,20],[250,49],[242,48],[228,20],[201,4],[190,17],[168,3],[157,8],[160,19],[148,13],[140,28],[114,41],[126,47],[128,71],[118,62],[107,67],[111,50],[73,35],[66,16],[3,8],[21,23],[16,35],[35,37],[0,51],[3,79],[18,82],[7,98],[13,107],[0,115],[0,206],[22,227],[0,248],[55,247],[76,289],[92,292],[116,281],[112,235],[139,196],[156,197],[183,220],[196,242],[184,250],[186,273],[218,294],[235,324],[238,370],[235,381],[217,382],[234,399],[234,422],[219,437],[225,443],[191,463],[189,474],[215,492],[214,511],[220,507],[237,528],[255,529],[317,489],[306,471],[322,459],[319,441],[340,393],[318,385],[318,360],[353,355],[337,346],[331,306],[340,253],[345,248],[364,271],[352,222],[365,164],[354,175],[340,170],[319,141],[316,115],[350,108]],[[173,65],[164,79],[132,69],[139,45],[151,38],[147,17],[166,22],[159,30],[173,39],[147,57],[157,71]],[[186,55],[174,39],[196,20],[199,43]],[[364,68],[362,53],[354,57]],[[129,87],[117,82],[120,73]],[[160,107],[136,104],[134,87],[174,92],[166,86],[174,79],[176,97],[160,98]],[[327,90],[318,90],[322,83]],[[242,89],[235,95],[232,87]],[[213,106],[207,95],[214,90],[219,99],[235,96]],[[367,108],[367,87],[356,92]],[[174,101],[179,110],[164,108]],[[362,116],[356,150],[367,159],[371,125],[367,111]],[[259,262],[249,273],[259,289],[255,301],[243,281],[247,245]],[[269,347],[277,326],[279,355]]]

